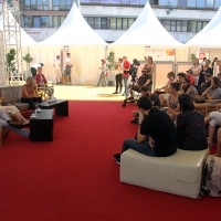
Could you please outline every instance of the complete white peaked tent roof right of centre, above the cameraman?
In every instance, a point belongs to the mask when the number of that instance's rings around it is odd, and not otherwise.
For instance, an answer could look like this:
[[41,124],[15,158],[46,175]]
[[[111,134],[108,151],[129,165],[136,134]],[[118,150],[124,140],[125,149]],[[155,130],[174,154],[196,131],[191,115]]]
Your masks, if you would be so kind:
[[180,48],[182,44],[175,40],[160,24],[149,2],[140,12],[133,25],[110,46],[150,46]]

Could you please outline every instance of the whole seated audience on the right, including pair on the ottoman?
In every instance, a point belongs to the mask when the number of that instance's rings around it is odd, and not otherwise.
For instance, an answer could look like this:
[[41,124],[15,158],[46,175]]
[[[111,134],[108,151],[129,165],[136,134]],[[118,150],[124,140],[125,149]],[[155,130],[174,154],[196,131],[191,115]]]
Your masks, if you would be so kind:
[[[215,63],[220,70],[218,76],[213,74]],[[221,101],[221,61],[215,57],[211,64],[204,57],[199,64],[194,59],[186,73],[176,76],[169,72],[168,82],[155,93],[151,93],[151,86],[146,87],[151,78],[147,77],[139,85],[143,75],[130,88],[140,92],[138,109],[131,113],[131,123],[138,124],[138,130],[135,138],[126,139],[122,151],[114,155],[116,162],[120,164],[120,155],[129,148],[152,157],[173,155],[177,148],[207,149],[213,147],[215,135],[218,148],[214,156],[221,157],[221,110],[210,112],[208,116],[202,112],[208,106],[218,107]]]

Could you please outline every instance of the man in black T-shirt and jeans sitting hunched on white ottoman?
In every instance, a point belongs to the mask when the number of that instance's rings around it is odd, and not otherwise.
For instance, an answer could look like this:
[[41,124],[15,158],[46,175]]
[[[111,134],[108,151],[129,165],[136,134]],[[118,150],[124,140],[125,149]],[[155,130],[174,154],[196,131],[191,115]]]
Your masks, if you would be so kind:
[[138,127],[137,139],[124,141],[122,152],[114,155],[117,164],[120,164],[120,155],[129,148],[151,157],[168,157],[177,151],[177,133],[170,117],[154,107],[146,96],[138,99],[137,106],[144,115]]

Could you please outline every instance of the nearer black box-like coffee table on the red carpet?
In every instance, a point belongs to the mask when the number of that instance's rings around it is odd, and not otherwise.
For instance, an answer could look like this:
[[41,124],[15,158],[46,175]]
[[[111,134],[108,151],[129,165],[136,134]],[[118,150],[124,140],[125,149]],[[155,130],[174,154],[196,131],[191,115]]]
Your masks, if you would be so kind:
[[53,141],[53,109],[42,109],[30,118],[30,141]]

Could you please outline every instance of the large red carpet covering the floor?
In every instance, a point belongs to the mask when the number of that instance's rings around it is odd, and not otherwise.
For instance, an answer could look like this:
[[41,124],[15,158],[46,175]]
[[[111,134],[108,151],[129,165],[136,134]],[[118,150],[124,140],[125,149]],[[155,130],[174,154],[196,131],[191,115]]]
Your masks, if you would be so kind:
[[10,131],[0,147],[0,221],[220,220],[219,198],[193,200],[119,182],[113,154],[137,130],[133,109],[70,102],[70,117],[54,117],[53,143]]

